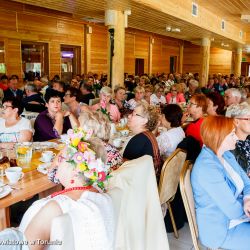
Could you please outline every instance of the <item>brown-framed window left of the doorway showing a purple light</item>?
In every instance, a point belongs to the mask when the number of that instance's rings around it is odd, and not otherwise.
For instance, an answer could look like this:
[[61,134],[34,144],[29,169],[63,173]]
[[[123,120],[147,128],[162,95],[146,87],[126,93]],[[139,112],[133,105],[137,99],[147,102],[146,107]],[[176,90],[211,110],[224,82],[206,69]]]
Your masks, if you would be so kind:
[[24,79],[33,81],[35,77],[49,75],[48,44],[22,42],[21,46]]

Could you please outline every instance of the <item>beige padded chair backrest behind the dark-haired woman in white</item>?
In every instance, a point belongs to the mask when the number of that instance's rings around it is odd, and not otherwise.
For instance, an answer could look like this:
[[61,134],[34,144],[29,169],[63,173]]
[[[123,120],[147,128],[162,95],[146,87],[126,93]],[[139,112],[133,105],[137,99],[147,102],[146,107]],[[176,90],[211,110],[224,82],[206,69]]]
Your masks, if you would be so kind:
[[185,160],[186,152],[176,149],[164,162],[158,187],[161,204],[166,203],[175,195]]

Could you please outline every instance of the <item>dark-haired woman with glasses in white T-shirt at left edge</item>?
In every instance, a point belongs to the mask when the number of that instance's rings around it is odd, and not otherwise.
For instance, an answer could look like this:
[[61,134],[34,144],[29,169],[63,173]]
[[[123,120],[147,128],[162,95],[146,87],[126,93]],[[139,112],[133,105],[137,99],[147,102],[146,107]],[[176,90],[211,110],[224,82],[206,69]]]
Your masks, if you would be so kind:
[[0,118],[0,147],[12,148],[15,142],[32,140],[30,121],[21,117],[22,105],[15,97],[3,99]]

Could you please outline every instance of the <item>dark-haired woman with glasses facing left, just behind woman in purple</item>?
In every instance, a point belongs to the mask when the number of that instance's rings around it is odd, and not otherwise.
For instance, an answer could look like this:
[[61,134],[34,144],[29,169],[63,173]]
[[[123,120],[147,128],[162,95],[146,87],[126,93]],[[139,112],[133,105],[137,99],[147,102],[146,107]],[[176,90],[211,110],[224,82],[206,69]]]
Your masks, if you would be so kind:
[[80,103],[81,91],[74,87],[69,87],[63,97],[64,104],[69,108],[69,111],[73,113],[75,117],[79,117],[82,111],[88,111],[89,108],[86,104]]

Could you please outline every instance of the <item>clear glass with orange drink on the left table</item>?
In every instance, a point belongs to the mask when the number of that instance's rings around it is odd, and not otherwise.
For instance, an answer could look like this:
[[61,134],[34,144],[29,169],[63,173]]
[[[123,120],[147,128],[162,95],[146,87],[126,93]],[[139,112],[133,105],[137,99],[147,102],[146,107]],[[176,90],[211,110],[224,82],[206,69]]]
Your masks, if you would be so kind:
[[17,165],[28,167],[32,158],[32,142],[17,143],[15,146]]

